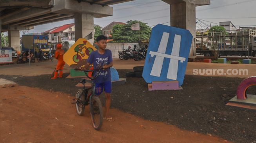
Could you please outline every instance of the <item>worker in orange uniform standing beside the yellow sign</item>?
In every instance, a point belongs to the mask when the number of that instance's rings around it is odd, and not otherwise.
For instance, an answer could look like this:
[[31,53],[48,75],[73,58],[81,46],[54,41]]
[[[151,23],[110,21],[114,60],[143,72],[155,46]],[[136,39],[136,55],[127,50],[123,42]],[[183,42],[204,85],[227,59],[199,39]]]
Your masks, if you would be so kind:
[[54,77],[51,79],[57,79],[57,75],[58,75],[58,71],[60,70],[60,74],[59,74],[59,78],[62,77],[62,73],[63,73],[63,68],[64,68],[64,64],[65,62],[63,61],[63,55],[64,55],[64,50],[62,50],[62,45],[60,43],[58,43],[56,45],[56,51],[55,51],[55,59],[58,60],[56,69],[54,70]]

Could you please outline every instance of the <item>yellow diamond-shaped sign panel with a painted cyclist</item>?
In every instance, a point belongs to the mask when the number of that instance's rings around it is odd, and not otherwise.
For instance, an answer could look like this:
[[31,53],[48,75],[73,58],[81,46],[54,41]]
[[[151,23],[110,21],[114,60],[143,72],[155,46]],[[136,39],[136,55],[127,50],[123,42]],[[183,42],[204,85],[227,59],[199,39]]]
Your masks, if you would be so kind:
[[79,68],[86,64],[91,52],[97,50],[87,39],[79,38],[63,55],[66,64],[71,68]]

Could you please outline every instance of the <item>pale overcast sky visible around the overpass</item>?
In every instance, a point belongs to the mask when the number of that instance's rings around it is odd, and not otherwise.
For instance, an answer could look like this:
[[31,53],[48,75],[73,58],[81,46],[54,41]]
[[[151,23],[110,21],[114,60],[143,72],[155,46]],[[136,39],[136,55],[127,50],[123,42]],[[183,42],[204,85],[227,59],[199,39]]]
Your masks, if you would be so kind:
[[[113,16],[94,18],[94,24],[105,27],[112,21],[127,22],[140,20],[153,27],[158,23],[170,25],[170,5],[162,0],[134,0],[110,5]],[[197,29],[218,25],[220,21],[231,21],[237,29],[243,26],[256,26],[256,0],[211,0],[211,5],[196,7]],[[30,33],[41,33],[56,26],[74,23],[74,19],[34,26]],[[22,34],[22,32],[21,32]]]

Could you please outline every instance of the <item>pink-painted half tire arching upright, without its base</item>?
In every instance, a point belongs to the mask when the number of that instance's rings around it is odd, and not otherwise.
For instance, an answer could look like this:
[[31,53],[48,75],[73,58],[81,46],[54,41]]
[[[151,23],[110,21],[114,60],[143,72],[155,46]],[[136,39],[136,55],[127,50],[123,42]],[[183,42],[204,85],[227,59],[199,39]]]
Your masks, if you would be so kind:
[[256,86],[256,76],[244,79],[236,90],[236,97],[245,100],[247,98],[246,91],[250,86]]

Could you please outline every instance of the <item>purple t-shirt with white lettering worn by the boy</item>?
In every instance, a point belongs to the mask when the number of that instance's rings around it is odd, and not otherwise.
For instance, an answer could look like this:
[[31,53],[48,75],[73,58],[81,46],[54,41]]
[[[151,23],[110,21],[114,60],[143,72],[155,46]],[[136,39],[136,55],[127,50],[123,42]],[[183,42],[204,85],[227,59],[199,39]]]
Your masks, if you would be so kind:
[[[111,50],[105,50],[104,54],[100,54],[97,50],[91,52],[89,55],[87,62],[92,64],[93,63],[93,69],[99,69],[103,65],[107,65],[113,61],[112,59],[112,53]],[[95,83],[103,83],[107,81],[111,81],[111,74],[110,74],[110,68],[107,68],[106,70],[100,70],[99,75],[96,79],[94,79]],[[93,76],[96,75],[97,72],[94,72]]]

